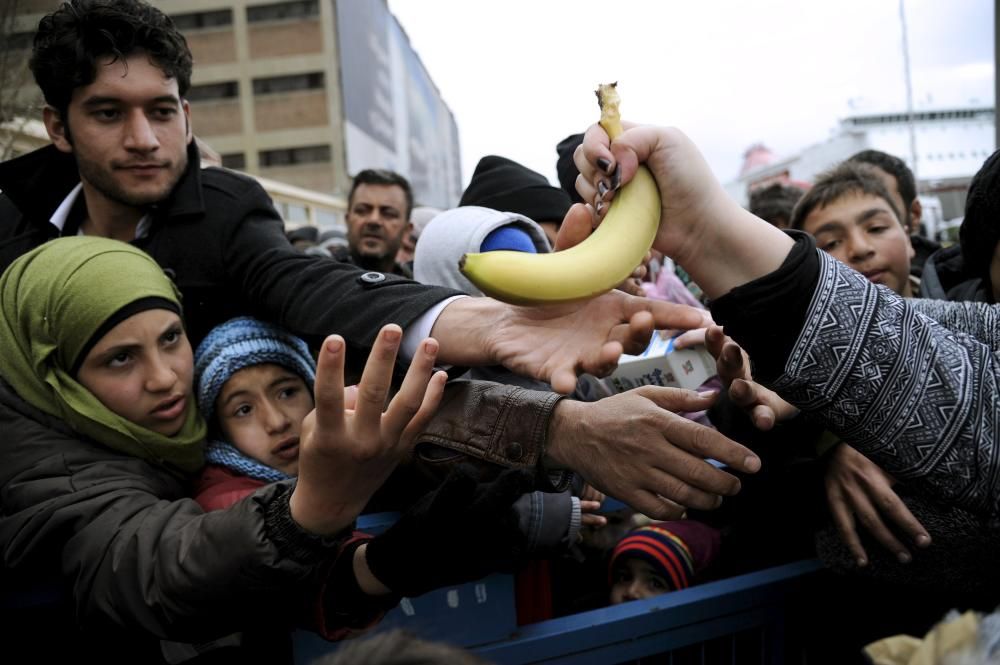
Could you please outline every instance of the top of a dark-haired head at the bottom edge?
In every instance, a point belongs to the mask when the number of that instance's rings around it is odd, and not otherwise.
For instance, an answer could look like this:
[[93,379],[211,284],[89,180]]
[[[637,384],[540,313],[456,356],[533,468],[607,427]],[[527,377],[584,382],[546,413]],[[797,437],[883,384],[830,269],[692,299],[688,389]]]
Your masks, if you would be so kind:
[[342,643],[332,654],[313,665],[486,665],[486,661],[460,647],[431,642],[396,628]]

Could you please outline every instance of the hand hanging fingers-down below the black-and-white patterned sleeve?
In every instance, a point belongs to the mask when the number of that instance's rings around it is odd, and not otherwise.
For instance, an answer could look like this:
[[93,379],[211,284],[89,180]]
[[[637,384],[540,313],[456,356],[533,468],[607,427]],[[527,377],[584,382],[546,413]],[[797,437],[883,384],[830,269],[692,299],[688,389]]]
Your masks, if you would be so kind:
[[927,530],[893,491],[895,483],[892,476],[846,443],[837,444],[829,454],[825,478],[827,503],[841,540],[859,566],[868,564],[868,554],[858,536],[858,523],[895,554],[900,563],[910,561],[910,552],[893,535],[886,521],[900,528],[918,547],[930,545]]

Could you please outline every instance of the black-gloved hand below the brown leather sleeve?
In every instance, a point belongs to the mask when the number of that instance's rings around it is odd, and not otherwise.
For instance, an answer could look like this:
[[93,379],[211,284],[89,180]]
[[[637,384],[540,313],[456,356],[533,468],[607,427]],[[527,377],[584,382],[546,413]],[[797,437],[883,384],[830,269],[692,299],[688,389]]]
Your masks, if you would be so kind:
[[534,489],[534,472],[510,469],[488,482],[477,476],[456,467],[368,543],[368,568],[383,585],[414,597],[512,569],[526,548],[513,504]]

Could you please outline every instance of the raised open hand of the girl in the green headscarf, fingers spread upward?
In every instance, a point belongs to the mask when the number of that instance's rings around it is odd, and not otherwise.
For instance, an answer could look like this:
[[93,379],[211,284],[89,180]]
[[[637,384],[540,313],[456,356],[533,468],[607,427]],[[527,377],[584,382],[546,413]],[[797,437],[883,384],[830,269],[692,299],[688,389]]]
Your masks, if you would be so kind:
[[396,465],[441,401],[447,375],[434,373],[438,344],[425,339],[399,392],[383,413],[402,329],[379,331],[357,386],[354,409],[345,408],[344,340],[323,342],[316,365],[316,408],[302,423],[299,479],[289,500],[302,528],[331,535],[349,526]]

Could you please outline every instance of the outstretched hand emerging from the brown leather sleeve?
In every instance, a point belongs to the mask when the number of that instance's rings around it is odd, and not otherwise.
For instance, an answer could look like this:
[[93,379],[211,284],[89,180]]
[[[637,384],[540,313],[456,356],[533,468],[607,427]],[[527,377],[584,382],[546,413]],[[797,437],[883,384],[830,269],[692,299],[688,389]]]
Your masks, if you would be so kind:
[[715,393],[644,386],[597,402],[562,400],[547,454],[601,492],[656,519],[715,508],[740,481],[708,458],[755,473],[760,459],[718,431],[675,411],[707,409]]

